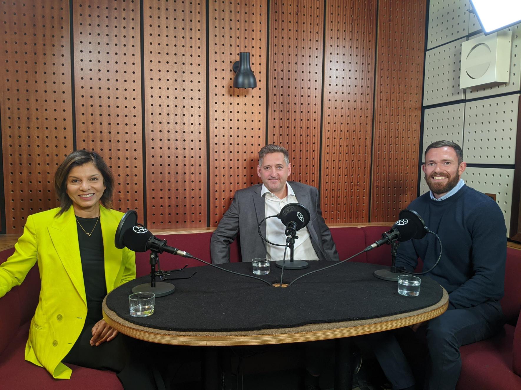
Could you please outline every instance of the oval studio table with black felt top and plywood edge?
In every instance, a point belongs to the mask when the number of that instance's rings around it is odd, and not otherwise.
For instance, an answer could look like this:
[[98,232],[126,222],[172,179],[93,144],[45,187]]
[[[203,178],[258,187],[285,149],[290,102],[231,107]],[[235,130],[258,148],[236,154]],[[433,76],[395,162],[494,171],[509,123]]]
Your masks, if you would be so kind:
[[[283,282],[333,264],[309,262],[309,268],[284,270]],[[230,263],[223,268],[252,275],[251,263]],[[103,317],[111,327],[136,339],[163,344],[232,346],[281,344],[337,339],[335,388],[351,389],[349,339],[345,337],[408,326],[441,315],[447,292],[423,277],[420,294],[398,294],[396,282],[373,276],[381,265],[345,262],[305,276],[288,288],[229,274],[205,266],[175,272],[176,291],[156,298],[152,316],[129,314],[128,295],[142,277],[110,292],[103,302]],[[272,264],[270,283],[280,281]],[[212,387],[211,383],[207,387]]]

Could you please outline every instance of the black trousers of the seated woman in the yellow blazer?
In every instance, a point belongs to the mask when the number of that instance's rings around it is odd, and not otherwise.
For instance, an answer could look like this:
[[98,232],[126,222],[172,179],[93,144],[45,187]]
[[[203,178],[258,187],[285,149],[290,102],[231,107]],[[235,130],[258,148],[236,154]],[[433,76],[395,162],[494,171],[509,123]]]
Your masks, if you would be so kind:
[[64,363],[114,371],[125,390],[165,389],[159,371],[154,368],[157,360],[152,348],[155,344],[119,333],[112,341],[91,346],[93,326],[93,323],[85,324]]

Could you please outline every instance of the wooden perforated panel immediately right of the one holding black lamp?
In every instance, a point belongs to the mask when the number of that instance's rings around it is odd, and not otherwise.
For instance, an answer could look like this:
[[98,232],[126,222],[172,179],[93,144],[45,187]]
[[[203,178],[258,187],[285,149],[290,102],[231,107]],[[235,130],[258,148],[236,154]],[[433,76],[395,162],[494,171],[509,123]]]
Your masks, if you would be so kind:
[[318,187],[324,2],[270,3],[268,142],[288,149],[290,179]]

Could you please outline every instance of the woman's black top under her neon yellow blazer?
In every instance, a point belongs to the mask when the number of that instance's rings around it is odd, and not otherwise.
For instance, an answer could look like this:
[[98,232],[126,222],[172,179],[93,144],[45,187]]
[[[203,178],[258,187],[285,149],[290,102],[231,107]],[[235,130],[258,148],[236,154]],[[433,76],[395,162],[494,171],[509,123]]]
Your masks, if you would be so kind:
[[[87,320],[85,323],[97,322],[103,318],[102,303],[103,298],[107,295],[101,222],[98,217],[81,218],[77,216],[76,218],[78,220],[81,268],[87,298]],[[91,233],[91,235],[89,236],[87,233]]]

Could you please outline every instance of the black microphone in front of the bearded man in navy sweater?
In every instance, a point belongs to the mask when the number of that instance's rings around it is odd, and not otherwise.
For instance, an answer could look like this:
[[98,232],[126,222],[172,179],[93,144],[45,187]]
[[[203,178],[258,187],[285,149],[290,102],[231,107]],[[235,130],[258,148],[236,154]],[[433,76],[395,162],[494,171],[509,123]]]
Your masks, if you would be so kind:
[[395,241],[404,242],[413,238],[419,240],[427,234],[428,228],[425,226],[424,220],[414,210],[402,210],[399,218],[390,230],[382,233],[381,239],[367,246],[364,252],[378,248],[383,244],[392,244]]

